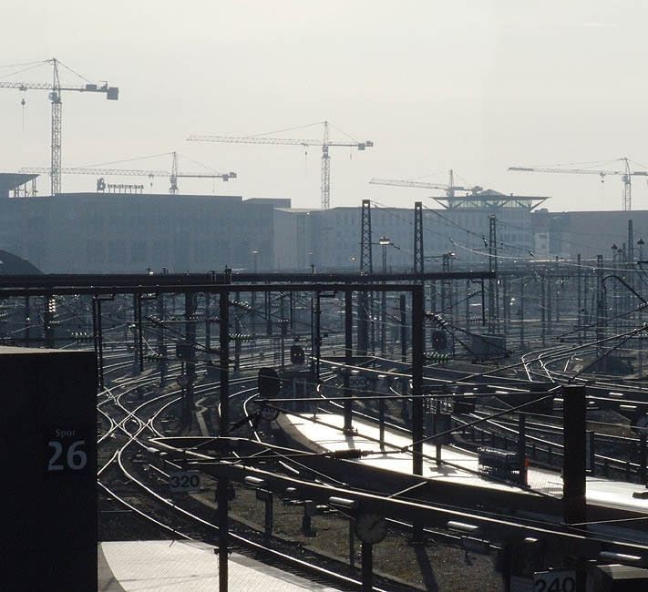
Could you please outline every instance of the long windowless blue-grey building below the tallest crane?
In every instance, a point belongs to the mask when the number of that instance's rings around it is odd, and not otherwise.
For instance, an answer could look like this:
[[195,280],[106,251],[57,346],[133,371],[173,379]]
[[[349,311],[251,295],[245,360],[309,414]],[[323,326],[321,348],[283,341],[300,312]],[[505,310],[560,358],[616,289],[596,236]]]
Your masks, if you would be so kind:
[[[0,249],[45,273],[273,266],[273,204],[240,196],[67,193],[0,199]],[[252,251],[256,251],[252,255]]]

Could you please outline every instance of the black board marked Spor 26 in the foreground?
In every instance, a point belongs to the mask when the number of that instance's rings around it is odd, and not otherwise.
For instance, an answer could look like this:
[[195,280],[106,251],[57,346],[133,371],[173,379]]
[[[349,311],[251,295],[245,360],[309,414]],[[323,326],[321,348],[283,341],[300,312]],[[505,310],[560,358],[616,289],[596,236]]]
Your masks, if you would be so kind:
[[94,352],[0,347],[4,592],[97,588]]

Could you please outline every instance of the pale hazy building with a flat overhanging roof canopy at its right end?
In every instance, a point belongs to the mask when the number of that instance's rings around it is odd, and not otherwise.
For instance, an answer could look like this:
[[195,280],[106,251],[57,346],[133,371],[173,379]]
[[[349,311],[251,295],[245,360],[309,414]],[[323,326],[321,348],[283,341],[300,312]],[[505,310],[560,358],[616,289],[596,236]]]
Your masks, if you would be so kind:
[[[501,259],[526,260],[533,248],[531,213],[535,201],[513,199],[496,191],[469,198],[439,199],[442,208],[423,209],[423,247],[426,269],[441,267],[451,253],[455,265],[489,264],[490,217],[495,217],[497,253]],[[536,200],[537,201],[537,200]],[[360,260],[361,208],[277,209],[275,269],[357,270]],[[371,207],[372,260],[382,270],[386,246],[388,270],[412,270],[414,264],[414,209]]]

